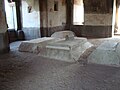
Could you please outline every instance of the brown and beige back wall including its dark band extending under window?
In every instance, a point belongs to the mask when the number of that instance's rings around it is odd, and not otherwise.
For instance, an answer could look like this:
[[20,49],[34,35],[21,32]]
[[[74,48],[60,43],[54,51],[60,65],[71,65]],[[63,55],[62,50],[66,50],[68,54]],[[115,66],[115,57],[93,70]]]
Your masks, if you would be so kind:
[[84,0],[84,25],[73,25],[77,36],[112,36],[113,0]]

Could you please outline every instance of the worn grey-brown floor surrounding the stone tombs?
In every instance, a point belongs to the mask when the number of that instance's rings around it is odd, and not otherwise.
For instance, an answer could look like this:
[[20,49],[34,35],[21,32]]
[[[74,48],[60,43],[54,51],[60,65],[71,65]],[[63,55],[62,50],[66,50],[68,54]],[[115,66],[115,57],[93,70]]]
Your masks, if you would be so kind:
[[[97,47],[106,40],[89,39]],[[0,90],[120,90],[120,67],[81,65],[18,52],[0,55]],[[94,50],[95,48],[93,48]],[[84,59],[88,53],[84,54]]]

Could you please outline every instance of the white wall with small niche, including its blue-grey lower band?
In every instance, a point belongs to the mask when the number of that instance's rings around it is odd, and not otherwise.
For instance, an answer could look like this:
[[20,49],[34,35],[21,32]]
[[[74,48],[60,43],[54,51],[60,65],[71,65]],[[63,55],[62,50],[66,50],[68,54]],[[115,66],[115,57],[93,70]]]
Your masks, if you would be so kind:
[[22,0],[22,21],[25,39],[41,37],[39,0]]

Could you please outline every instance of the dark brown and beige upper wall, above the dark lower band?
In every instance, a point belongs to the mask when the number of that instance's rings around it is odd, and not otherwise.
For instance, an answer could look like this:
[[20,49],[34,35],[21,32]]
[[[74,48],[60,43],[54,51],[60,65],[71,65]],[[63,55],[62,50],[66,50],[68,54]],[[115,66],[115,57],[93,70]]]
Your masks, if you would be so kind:
[[111,26],[112,1],[111,0],[85,0],[85,25]]

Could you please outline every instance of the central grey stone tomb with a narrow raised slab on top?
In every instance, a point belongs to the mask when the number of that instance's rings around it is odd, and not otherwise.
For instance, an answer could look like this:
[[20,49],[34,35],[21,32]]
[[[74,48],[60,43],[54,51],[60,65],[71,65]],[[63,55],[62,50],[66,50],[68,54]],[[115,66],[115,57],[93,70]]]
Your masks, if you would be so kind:
[[75,62],[91,46],[92,44],[87,42],[86,38],[75,37],[73,40],[64,39],[48,43],[46,49],[40,52],[39,55],[67,62]]

